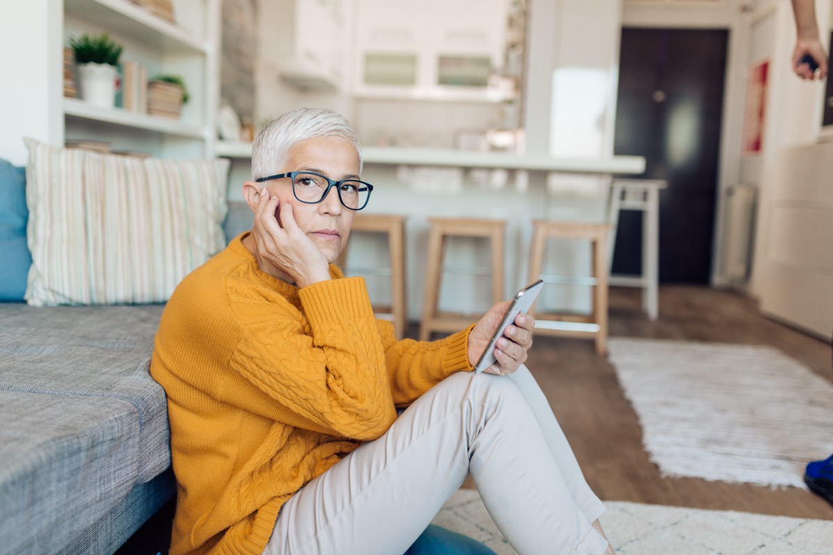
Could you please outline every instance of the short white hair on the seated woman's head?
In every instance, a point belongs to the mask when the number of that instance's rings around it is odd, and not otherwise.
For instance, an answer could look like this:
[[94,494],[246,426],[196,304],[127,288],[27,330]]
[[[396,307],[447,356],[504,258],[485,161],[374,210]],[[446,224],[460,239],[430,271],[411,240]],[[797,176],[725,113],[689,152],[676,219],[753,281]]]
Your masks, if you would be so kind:
[[270,121],[257,133],[252,145],[252,179],[282,172],[292,146],[317,136],[340,136],[352,142],[362,171],[362,144],[344,116],[326,108],[297,108]]

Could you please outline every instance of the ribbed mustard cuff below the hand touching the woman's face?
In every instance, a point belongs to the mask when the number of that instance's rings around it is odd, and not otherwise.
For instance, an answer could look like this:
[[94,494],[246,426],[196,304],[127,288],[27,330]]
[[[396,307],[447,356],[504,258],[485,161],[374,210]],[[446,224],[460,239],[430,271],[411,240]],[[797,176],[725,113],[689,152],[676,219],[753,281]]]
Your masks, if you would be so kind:
[[332,325],[344,320],[376,321],[362,277],[319,281],[298,290],[298,297],[310,325]]

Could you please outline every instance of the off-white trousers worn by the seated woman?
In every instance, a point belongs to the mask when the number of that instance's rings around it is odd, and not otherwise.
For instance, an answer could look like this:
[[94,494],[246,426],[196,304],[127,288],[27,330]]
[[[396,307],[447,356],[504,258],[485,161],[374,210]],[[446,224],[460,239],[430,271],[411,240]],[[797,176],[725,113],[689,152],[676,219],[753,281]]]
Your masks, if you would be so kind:
[[296,493],[264,553],[403,553],[469,471],[521,555],[604,552],[515,381],[460,372]]

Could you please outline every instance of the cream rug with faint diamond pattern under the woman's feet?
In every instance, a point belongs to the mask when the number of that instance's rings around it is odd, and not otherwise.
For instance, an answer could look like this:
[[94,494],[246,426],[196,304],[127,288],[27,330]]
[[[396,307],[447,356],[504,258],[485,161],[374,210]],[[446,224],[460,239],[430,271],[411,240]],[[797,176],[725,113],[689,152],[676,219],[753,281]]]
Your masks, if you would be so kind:
[[[833,521],[735,511],[607,501],[601,527],[619,555],[825,555]],[[484,543],[498,555],[516,552],[491,520],[476,490],[461,489],[434,523]]]

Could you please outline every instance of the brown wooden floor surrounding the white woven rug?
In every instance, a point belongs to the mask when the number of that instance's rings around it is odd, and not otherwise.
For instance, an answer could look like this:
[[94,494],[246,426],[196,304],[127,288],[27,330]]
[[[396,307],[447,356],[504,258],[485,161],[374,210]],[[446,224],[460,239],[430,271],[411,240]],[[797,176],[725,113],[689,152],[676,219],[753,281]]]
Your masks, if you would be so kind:
[[[611,336],[768,344],[833,379],[830,344],[764,318],[745,296],[663,286],[660,317],[651,322],[641,313],[639,295],[635,289],[611,289]],[[614,369],[596,354],[591,341],[536,337],[527,366],[550,400],[587,482],[602,500],[833,520],[833,506],[805,488],[662,478],[642,448],[639,422]],[[817,458],[830,454],[820,451]]]

